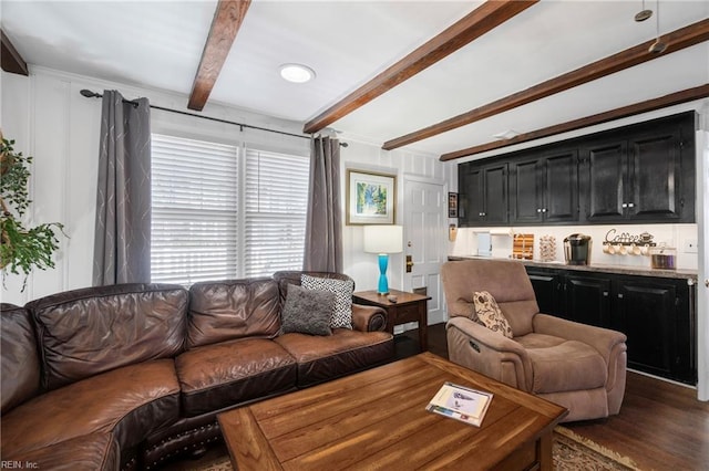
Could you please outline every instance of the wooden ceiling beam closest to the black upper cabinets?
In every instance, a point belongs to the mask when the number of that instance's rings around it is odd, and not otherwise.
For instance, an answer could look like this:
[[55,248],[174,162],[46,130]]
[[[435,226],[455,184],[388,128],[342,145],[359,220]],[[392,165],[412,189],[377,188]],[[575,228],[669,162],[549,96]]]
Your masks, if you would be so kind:
[[567,133],[569,130],[595,126],[598,124],[608,123],[610,121],[634,116],[640,113],[653,112],[656,109],[666,108],[668,106],[678,105],[680,103],[706,98],[708,96],[709,84],[705,84],[696,86],[693,88],[682,90],[681,92],[670,93],[669,95],[664,95],[658,98],[647,100],[645,102],[615,108],[609,112],[598,113],[579,119],[574,119],[554,126],[544,127],[542,129],[532,130],[530,133],[524,133],[515,136],[511,139],[495,140],[487,144],[481,144],[477,146],[467,147],[465,149],[455,150],[453,153],[443,154],[441,155],[440,160],[446,161],[454,160],[461,157],[469,157],[487,150],[500,149],[503,147],[513,146],[515,144],[526,143],[528,140],[541,139],[542,137],[554,136],[557,134]]

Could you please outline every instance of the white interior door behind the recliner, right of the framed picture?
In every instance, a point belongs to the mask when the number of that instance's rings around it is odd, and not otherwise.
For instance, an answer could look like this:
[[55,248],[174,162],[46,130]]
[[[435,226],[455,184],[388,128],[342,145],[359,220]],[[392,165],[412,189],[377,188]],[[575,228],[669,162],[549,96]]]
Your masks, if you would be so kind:
[[[429,324],[445,321],[441,287],[441,264],[446,257],[448,201],[442,182],[404,178],[404,263],[411,257],[411,271],[404,269],[408,291],[425,286]],[[405,264],[404,264],[405,266]]]

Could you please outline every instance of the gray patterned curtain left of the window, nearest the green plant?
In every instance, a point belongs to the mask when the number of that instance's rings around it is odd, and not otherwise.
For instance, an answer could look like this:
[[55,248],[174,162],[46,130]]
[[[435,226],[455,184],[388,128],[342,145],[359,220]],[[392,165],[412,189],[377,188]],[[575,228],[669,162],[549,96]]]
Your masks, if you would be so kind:
[[94,286],[151,281],[150,118],[147,98],[103,92]]

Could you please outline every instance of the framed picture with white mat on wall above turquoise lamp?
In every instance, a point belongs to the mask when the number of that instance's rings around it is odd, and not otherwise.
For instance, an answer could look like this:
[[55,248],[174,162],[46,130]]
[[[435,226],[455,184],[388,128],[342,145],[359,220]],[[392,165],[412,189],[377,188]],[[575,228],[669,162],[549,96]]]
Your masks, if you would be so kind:
[[348,226],[393,224],[397,211],[397,176],[347,170]]

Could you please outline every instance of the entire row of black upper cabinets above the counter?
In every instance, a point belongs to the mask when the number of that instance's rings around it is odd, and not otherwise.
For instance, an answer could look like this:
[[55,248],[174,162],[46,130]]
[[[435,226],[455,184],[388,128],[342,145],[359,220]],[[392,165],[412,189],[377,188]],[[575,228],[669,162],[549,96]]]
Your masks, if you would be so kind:
[[687,112],[460,164],[459,223],[695,222],[695,122]]

